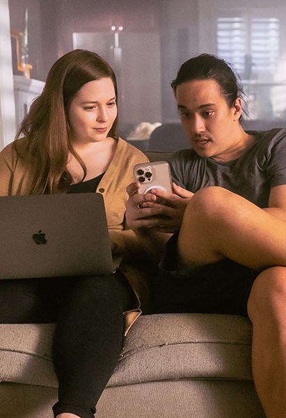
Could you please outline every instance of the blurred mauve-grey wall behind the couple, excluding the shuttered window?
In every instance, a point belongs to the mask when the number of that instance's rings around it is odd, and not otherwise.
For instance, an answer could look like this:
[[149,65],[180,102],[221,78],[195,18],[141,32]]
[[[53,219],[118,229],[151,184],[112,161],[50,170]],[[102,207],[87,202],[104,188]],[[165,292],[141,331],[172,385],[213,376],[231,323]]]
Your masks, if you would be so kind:
[[[267,78],[260,75],[256,85],[246,83],[245,90],[254,98],[255,117],[270,117],[265,111],[267,100],[274,101],[279,109],[285,107],[285,0],[9,0],[9,7],[11,29],[18,31],[24,31],[28,8],[29,61],[34,79],[45,81],[56,59],[74,49],[74,33],[93,34],[90,48],[103,54],[116,70],[123,123],[179,120],[170,82],[186,59],[201,52],[216,54],[218,17],[230,13],[244,17],[246,22],[251,16],[278,17],[278,70]],[[110,49],[112,25],[123,26],[120,65]]]

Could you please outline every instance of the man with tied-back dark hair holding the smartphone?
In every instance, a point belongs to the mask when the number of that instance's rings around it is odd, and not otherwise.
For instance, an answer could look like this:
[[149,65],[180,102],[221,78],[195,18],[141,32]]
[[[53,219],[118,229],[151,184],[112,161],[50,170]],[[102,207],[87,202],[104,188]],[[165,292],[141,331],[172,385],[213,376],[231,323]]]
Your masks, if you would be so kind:
[[173,194],[128,187],[127,223],[164,256],[154,309],[249,316],[257,393],[285,418],[286,130],[243,130],[238,79],[216,56],[186,61],[172,87],[192,146],[169,161]]

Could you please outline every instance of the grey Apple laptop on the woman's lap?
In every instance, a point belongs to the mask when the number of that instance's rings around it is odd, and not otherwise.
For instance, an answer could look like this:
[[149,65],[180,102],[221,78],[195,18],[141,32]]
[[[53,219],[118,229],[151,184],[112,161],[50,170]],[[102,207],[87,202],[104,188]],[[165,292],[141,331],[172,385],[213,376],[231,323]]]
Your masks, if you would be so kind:
[[115,270],[102,194],[0,197],[0,279]]

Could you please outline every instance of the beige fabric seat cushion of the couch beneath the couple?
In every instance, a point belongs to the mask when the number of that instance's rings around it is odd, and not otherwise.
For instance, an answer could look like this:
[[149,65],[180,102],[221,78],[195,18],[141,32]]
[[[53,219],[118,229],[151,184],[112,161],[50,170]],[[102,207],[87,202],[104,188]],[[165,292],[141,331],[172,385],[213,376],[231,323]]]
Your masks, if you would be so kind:
[[[0,380],[57,387],[54,325],[0,325]],[[252,380],[247,318],[211,314],[141,316],[127,335],[109,386],[178,379]]]

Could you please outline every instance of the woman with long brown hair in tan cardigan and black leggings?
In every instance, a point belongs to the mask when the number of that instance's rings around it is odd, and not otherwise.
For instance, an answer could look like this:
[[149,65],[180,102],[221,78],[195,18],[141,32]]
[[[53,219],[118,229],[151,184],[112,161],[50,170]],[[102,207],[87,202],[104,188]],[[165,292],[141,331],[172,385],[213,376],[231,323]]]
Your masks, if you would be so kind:
[[[16,141],[0,153],[0,195],[102,193],[121,256],[136,241],[125,231],[126,186],[134,164],[147,158],[116,136],[117,95],[113,70],[97,54],[75,50],[58,59]],[[93,417],[134,310],[140,314],[132,288],[137,284],[120,269],[104,277],[0,281],[1,323],[56,323],[56,418]]]

